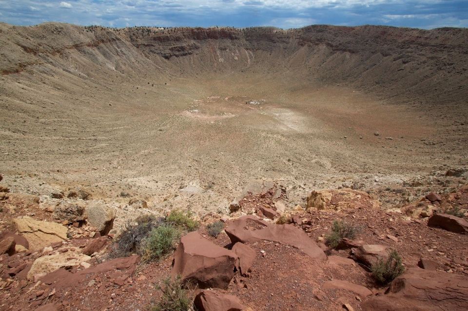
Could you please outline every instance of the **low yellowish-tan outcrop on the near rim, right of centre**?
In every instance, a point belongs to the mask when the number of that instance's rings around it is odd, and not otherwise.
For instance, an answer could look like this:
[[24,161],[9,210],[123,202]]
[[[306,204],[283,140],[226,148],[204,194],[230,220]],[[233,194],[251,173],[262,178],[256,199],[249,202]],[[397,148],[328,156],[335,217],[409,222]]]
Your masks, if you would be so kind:
[[326,189],[313,190],[307,196],[307,210],[341,210],[341,209],[365,209],[380,208],[381,203],[373,199],[369,194],[352,189]]

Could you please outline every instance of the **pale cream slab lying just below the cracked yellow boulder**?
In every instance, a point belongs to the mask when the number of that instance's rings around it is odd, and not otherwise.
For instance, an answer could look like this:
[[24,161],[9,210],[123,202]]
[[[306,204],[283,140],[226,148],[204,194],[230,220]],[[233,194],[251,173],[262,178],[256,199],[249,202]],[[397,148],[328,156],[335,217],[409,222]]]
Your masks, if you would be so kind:
[[57,269],[72,269],[78,267],[83,261],[91,259],[79,251],[69,251],[67,253],[53,253],[36,259],[28,272],[28,280],[32,281],[34,275],[40,273],[49,273]]

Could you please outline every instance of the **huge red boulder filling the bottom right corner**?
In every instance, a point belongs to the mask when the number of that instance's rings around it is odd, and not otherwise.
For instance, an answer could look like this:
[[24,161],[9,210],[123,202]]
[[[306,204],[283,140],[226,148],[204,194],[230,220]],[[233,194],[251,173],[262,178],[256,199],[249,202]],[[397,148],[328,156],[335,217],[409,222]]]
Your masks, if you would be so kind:
[[385,295],[361,304],[363,311],[468,310],[466,276],[409,268],[395,278]]

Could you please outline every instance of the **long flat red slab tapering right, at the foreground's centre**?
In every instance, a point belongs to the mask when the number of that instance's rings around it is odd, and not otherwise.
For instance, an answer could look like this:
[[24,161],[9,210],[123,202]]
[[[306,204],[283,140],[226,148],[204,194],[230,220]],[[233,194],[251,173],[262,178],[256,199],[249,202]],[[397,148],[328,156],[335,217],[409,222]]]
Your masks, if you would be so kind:
[[[248,221],[257,226],[264,226],[264,228],[259,230],[246,229]],[[322,249],[306,233],[292,225],[271,225],[256,216],[246,215],[234,220],[225,231],[233,244],[267,240],[295,247],[312,259],[327,259]]]

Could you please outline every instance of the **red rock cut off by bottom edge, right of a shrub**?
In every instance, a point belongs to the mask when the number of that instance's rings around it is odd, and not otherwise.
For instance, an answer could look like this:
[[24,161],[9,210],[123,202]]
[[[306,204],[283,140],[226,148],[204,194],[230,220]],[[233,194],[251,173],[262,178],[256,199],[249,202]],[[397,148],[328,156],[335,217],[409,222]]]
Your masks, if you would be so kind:
[[241,311],[247,309],[236,296],[215,291],[200,292],[195,296],[194,304],[199,311]]

